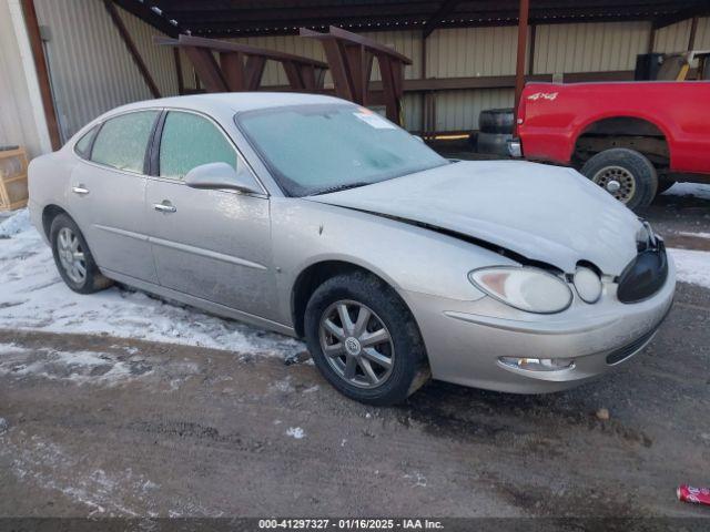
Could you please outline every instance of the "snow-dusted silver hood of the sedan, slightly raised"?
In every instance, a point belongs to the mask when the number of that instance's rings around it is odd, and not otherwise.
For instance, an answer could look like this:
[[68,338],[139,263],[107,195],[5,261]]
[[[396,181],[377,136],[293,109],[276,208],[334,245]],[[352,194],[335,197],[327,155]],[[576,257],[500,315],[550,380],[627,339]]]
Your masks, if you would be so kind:
[[574,170],[458,162],[307,200],[426,224],[572,273],[619,275],[637,255],[638,217]]

